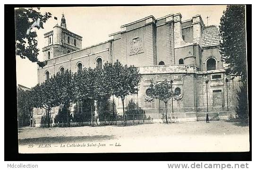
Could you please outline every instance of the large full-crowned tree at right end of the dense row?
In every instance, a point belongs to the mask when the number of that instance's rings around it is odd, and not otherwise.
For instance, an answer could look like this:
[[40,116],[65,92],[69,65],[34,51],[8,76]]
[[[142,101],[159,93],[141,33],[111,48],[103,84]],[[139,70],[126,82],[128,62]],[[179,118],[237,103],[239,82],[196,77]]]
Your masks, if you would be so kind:
[[125,119],[124,100],[127,95],[136,94],[141,80],[139,70],[134,66],[123,66],[118,60],[112,64],[104,65],[104,82],[111,93],[120,97],[123,106],[123,116]]

